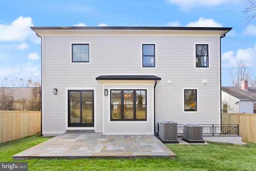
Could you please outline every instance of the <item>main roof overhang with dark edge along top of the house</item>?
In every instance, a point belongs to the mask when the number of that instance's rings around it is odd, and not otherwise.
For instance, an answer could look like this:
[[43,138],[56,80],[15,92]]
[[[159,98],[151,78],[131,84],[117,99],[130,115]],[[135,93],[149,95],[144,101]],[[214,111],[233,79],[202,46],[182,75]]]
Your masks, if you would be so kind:
[[215,33],[223,36],[229,27],[128,27],[128,26],[72,26],[72,27],[30,27],[38,36],[51,34],[86,33],[86,32],[155,32],[155,33]]

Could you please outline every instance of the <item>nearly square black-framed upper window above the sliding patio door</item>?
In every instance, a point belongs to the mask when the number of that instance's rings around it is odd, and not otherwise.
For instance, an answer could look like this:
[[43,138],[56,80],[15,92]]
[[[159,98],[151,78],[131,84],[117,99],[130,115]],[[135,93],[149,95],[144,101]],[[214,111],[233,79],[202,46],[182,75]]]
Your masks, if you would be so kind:
[[72,44],[72,62],[90,62],[89,44]]

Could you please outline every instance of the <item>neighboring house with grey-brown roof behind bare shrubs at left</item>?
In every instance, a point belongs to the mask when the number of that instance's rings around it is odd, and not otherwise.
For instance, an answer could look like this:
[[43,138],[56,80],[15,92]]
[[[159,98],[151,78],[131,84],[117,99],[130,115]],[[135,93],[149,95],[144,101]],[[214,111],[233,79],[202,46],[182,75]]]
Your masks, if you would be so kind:
[[14,108],[17,110],[27,110],[26,99],[32,97],[34,87],[1,87],[0,95],[6,93],[14,98]]

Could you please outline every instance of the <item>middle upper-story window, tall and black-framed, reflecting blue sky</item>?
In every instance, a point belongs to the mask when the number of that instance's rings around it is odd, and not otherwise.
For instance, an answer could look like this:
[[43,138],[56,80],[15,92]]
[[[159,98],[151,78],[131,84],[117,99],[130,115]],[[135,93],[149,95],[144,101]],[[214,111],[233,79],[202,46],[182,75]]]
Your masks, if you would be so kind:
[[156,67],[154,44],[142,44],[142,67]]

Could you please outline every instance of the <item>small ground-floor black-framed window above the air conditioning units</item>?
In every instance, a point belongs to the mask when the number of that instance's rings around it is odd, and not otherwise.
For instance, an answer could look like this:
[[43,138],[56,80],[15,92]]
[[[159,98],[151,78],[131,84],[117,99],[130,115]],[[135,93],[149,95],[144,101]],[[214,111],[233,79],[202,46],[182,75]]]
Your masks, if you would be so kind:
[[184,89],[184,111],[197,111],[196,89]]

